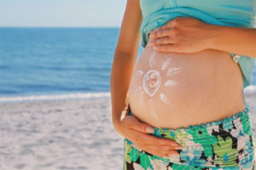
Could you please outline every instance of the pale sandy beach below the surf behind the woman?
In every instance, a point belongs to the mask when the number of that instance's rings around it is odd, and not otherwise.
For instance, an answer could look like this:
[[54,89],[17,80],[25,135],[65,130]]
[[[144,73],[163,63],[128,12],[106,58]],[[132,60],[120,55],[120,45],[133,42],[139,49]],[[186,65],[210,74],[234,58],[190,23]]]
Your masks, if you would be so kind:
[[[256,137],[256,94],[246,93]],[[0,169],[121,170],[110,98],[0,104]]]

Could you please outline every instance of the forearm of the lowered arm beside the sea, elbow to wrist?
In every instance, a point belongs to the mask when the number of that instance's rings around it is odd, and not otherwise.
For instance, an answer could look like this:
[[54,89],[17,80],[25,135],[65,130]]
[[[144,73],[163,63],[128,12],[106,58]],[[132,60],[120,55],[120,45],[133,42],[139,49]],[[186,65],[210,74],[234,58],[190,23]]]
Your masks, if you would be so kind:
[[136,65],[137,57],[116,50],[111,70],[110,88],[112,104],[113,127],[117,130],[122,113],[125,112],[129,101],[127,92],[131,82],[131,76]]

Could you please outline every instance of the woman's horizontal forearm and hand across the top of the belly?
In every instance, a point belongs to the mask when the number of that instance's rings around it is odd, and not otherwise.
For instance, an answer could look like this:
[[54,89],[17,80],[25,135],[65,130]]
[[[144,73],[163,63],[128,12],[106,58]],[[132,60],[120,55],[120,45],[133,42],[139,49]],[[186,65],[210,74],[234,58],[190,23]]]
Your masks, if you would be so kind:
[[177,17],[150,33],[149,45],[160,52],[195,53],[214,48],[256,58],[256,29],[207,24]]

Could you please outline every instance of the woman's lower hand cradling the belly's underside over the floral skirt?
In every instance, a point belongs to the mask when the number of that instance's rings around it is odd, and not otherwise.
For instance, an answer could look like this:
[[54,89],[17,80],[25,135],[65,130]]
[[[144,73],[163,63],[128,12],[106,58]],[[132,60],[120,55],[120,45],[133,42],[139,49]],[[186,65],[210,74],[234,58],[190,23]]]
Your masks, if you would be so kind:
[[[149,128],[149,132],[147,128]],[[119,122],[118,129],[119,133],[126,139],[131,140],[137,148],[145,150],[154,156],[168,157],[169,155],[177,154],[177,150],[182,149],[180,144],[171,139],[158,138],[148,134],[154,133],[154,128],[139,122],[135,116],[125,116]]]

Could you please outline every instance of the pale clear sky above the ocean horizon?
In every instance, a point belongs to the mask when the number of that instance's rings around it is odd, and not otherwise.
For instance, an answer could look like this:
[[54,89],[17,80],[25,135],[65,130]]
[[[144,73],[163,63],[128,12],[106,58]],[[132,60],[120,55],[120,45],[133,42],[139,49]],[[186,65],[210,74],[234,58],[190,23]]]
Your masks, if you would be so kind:
[[0,26],[119,27],[126,0],[0,0]]

